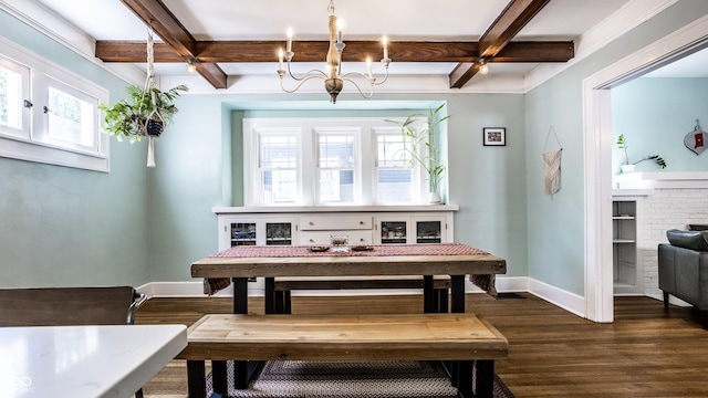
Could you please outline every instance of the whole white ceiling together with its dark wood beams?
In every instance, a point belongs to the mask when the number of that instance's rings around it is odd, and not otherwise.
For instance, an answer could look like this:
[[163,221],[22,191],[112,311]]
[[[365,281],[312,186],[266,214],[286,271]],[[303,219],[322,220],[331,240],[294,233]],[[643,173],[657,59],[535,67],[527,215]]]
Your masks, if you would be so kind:
[[[398,87],[394,90],[405,91],[420,77],[435,90],[523,90],[602,49],[671,1],[335,0],[335,14],[344,21],[342,59],[347,71],[365,67],[366,57],[381,59],[381,38],[388,38],[393,62],[387,85]],[[190,82],[205,92],[269,92],[278,86],[277,54],[288,28],[295,33],[293,71],[322,67],[329,46],[327,3],[0,0],[0,8],[24,15],[126,80],[140,81],[147,70],[149,25],[156,75],[170,83]],[[45,14],[54,15],[54,24],[46,23]],[[70,34],[58,29],[61,23],[67,23]],[[489,62],[488,75],[479,73],[480,59]],[[198,75],[187,74],[187,60],[196,61]],[[375,63],[374,74],[382,73]]]

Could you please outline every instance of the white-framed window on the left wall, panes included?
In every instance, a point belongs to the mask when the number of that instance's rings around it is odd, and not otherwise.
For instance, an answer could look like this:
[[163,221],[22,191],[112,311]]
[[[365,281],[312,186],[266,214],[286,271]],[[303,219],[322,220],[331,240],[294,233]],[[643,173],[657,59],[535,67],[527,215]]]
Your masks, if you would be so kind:
[[107,91],[0,38],[0,156],[108,171]]

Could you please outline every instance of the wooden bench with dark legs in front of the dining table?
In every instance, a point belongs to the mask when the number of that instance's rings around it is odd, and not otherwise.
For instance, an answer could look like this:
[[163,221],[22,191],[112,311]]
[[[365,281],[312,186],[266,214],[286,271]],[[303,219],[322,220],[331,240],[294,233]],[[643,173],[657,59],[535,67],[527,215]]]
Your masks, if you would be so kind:
[[189,327],[187,339],[176,358],[187,359],[191,398],[206,395],[205,360],[217,396],[227,392],[226,360],[237,360],[237,371],[248,360],[440,360],[451,365],[458,396],[492,397],[494,359],[509,352],[507,338],[473,314],[215,314]]

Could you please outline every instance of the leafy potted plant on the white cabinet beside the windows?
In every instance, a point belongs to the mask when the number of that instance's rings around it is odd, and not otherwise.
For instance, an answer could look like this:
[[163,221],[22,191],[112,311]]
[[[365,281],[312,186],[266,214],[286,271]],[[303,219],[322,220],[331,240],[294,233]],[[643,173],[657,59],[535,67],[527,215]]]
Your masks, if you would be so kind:
[[[404,140],[409,143],[409,145],[404,145],[402,156],[407,156],[412,165],[418,164],[428,175],[430,203],[440,202],[439,188],[445,174],[445,165],[439,160],[440,149],[435,142],[438,125],[450,117],[450,115],[439,116],[445,104],[435,109],[430,108],[428,114],[413,114],[403,122],[386,119],[386,122],[398,126]],[[426,119],[425,126],[415,128],[416,122],[421,117]]]

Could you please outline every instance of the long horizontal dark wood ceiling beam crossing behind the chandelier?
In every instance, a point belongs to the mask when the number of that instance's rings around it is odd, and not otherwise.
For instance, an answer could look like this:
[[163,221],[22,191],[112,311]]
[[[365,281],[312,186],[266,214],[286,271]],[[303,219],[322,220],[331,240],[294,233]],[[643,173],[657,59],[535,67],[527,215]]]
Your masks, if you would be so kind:
[[[293,62],[324,62],[329,42],[302,41],[293,43]],[[277,62],[278,41],[200,41],[194,57],[200,63],[219,62]],[[388,53],[396,62],[475,62],[479,45],[476,42],[393,42]],[[154,44],[155,62],[184,62],[169,45]],[[104,62],[145,62],[145,42],[97,41],[96,57]],[[364,61],[382,56],[379,42],[347,42],[342,54],[344,61]],[[573,42],[511,42],[490,62],[566,62],[574,55]],[[392,66],[393,67],[393,66]]]

